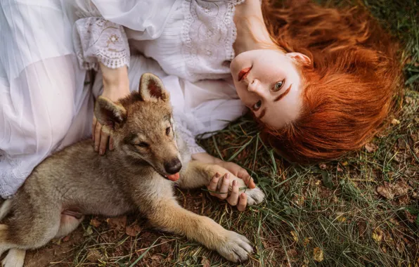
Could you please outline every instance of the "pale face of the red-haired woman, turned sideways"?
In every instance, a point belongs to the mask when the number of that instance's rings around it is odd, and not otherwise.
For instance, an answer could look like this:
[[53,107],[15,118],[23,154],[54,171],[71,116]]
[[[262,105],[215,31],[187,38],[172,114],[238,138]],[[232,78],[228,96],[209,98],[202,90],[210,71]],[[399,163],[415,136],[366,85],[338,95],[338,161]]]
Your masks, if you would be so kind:
[[247,108],[265,124],[281,128],[301,112],[302,78],[296,66],[309,62],[301,53],[259,49],[240,53],[230,69]]

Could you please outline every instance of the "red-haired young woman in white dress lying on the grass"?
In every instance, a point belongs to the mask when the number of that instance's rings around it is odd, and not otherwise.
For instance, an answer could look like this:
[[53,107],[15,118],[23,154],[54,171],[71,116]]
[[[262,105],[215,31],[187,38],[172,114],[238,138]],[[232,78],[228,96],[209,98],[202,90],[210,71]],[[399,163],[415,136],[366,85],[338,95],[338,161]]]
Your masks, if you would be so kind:
[[[93,95],[111,100],[136,90],[143,72],[159,75],[193,159],[247,181],[247,171],[208,155],[195,136],[250,110],[265,140],[292,161],[360,148],[389,112],[400,67],[389,36],[359,9],[306,1],[1,1],[1,196],[91,131],[100,155],[108,143],[112,150],[96,119],[91,126],[92,89],[84,86],[91,69],[99,70]],[[228,202],[245,209],[237,185]]]

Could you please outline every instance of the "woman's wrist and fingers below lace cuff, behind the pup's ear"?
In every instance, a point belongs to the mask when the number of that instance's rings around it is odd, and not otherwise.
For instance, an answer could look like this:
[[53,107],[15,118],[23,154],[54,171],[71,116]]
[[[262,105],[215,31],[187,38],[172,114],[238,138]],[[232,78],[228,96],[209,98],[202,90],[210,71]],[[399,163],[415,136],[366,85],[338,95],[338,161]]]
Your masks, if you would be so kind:
[[[105,96],[114,102],[127,96],[129,94],[127,66],[111,69],[103,64],[100,65],[103,74],[102,96]],[[93,115],[91,133],[95,151],[99,152],[99,155],[105,154],[108,143],[109,149],[113,150],[112,137],[109,136],[109,133],[102,131],[102,124],[97,121],[95,115]]]

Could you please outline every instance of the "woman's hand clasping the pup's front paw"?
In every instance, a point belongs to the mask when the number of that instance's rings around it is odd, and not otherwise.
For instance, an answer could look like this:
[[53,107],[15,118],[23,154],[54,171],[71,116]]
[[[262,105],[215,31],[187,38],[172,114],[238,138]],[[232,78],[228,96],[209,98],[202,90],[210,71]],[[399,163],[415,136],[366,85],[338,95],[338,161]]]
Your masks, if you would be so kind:
[[[247,173],[245,169],[238,166],[238,164],[233,162],[224,162],[221,159],[217,159],[216,157],[212,157],[207,153],[198,153],[192,155],[192,158],[195,160],[199,160],[200,162],[205,162],[209,164],[217,164],[224,169],[227,169],[231,172],[234,176],[243,179],[245,184],[248,188],[255,188],[256,185],[254,184],[253,179]],[[219,184],[219,179],[222,179],[222,183]],[[236,206],[239,211],[244,211],[247,206],[247,195],[246,193],[239,193],[240,188],[238,187],[237,181],[233,181],[231,183],[231,193],[228,196],[228,187],[230,185],[230,177],[229,174],[224,174],[221,177],[221,174],[215,174],[212,178],[209,185],[207,185],[207,189],[209,190],[209,194],[213,195],[214,197],[218,197],[221,200],[227,200],[228,204],[231,206]]]

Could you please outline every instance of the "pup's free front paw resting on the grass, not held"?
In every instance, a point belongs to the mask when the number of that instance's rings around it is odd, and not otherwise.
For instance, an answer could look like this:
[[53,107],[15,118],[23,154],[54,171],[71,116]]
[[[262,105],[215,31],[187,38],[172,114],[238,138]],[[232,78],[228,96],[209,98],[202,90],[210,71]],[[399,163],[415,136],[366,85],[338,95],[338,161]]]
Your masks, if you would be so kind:
[[219,244],[217,252],[228,261],[247,261],[249,254],[253,252],[250,241],[243,235],[226,230],[226,239]]

